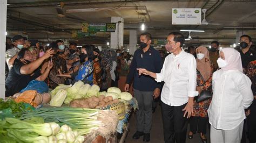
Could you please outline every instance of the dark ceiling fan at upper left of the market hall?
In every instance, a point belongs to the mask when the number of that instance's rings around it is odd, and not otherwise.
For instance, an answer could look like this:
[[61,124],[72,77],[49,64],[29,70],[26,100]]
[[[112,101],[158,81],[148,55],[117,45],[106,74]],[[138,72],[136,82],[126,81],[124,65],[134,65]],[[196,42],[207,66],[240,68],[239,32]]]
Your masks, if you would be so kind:
[[[84,22],[84,19],[76,18],[76,17],[71,17],[66,15],[66,10],[64,9],[64,2],[60,2],[60,8],[56,8],[57,11],[57,18],[67,18],[67,19],[72,19],[76,20],[78,22]],[[56,14],[38,14],[40,16],[56,16]]]

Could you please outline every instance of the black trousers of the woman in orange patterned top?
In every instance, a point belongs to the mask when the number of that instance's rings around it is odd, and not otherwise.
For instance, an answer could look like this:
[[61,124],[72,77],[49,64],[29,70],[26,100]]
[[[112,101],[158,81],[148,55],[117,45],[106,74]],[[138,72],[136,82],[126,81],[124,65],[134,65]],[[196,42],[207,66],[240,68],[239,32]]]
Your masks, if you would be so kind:
[[206,134],[206,128],[208,123],[208,118],[204,117],[191,117],[190,118],[190,131],[194,134],[196,132]]

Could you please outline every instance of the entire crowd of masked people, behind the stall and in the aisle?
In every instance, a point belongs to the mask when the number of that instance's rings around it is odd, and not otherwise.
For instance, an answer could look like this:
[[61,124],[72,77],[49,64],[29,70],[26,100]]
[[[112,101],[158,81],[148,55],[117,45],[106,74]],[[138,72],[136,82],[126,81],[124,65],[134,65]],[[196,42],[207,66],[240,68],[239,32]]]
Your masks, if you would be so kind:
[[150,33],[140,34],[140,48],[130,55],[62,40],[43,47],[22,35],[6,38],[5,95],[33,80],[51,89],[83,81],[106,91],[118,87],[119,76],[127,76],[124,90],[133,83],[139,105],[133,139],[150,141],[154,101],[160,97],[165,142],[185,142],[196,133],[207,142],[209,123],[211,142],[256,142],[256,53],[249,35],[241,35],[237,48],[220,49],[212,41],[210,49],[190,46],[184,51],[183,34],[171,32],[165,45],[169,54],[151,42]]

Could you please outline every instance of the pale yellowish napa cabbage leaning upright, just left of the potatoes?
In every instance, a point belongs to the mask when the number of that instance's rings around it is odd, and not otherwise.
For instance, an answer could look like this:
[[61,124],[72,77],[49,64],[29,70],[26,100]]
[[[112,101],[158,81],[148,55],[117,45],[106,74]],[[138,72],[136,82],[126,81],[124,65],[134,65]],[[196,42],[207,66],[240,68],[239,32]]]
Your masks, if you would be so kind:
[[66,98],[66,90],[60,89],[57,94],[51,99],[51,106],[62,106],[64,100]]

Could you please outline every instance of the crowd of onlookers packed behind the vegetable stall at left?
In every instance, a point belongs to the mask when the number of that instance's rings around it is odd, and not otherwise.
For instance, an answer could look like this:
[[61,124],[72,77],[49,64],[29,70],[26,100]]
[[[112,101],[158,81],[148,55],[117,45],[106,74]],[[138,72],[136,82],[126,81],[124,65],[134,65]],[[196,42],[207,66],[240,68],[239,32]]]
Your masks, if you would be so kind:
[[127,52],[100,51],[94,45],[78,47],[75,42],[68,46],[62,40],[43,47],[31,45],[22,35],[6,38],[5,95],[16,94],[33,80],[45,81],[50,89],[83,81],[106,91],[118,86],[121,70],[129,70],[132,58]]

